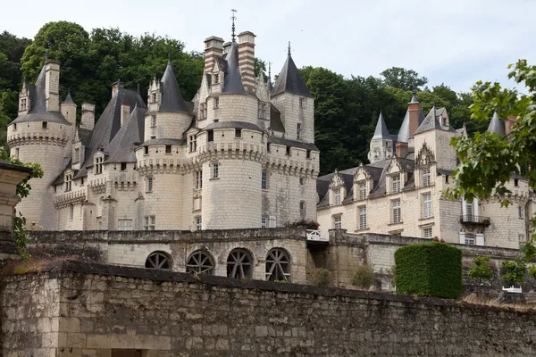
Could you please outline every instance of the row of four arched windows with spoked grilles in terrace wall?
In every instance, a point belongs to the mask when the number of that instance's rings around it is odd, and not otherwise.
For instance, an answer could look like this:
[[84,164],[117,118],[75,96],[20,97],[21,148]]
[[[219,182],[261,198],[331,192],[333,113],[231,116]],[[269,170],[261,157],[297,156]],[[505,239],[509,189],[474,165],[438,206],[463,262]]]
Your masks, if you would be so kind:
[[[253,254],[247,249],[237,248],[227,257],[227,277],[253,278]],[[147,269],[172,270],[172,258],[168,253],[150,253],[146,260]],[[214,275],[214,258],[206,250],[191,253],[186,261],[186,271],[191,274]],[[265,278],[271,281],[290,282],[290,256],[282,248],[273,248],[266,255]]]

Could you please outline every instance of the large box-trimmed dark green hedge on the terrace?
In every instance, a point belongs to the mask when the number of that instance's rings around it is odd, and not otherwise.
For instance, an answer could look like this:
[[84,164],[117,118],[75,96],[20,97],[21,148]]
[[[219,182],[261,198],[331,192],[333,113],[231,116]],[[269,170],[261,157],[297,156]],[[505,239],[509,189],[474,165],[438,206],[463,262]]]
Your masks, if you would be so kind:
[[462,251],[440,242],[395,252],[398,294],[456,298],[462,295]]

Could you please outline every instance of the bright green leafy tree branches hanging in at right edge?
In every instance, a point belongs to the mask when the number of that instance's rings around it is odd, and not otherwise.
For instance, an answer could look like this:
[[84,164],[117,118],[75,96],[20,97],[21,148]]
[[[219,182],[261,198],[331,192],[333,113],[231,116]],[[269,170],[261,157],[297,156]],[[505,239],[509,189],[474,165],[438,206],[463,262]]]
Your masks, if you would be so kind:
[[[529,186],[536,188],[536,165],[533,164],[536,162],[536,66],[519,60],[508,68],[512,69],[508,78],[523,83],[527,94],[503,88],[498,83],[478,81],[473,87],[471,118],[487,122],[493,112],[497,112],[499,118],[515,119],[515,124],[508,137],[483,132],[452,140],[460,161],[452,175],[453,187],[446,192],[453,199],[461,196],[468,200],[475,196],[487,199],[498,194],[502,196],[501,205],[508,206],[507,182],[512,174],[523,175]],[[536,224],[534,218],[533,224]],[[536,239],[534,234],[532,241]],[[524,253],[525,258],[531,258],[536,249],[526,247]]]

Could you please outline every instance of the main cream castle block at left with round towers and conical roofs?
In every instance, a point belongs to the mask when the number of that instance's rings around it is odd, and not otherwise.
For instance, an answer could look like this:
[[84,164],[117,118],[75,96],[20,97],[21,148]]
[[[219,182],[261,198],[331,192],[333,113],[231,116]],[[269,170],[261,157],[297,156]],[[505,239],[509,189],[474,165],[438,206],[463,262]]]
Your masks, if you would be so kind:
[[[171,61],[147,104],[117,81],[95,105],[60,103],[60,63],[24,83],[11,154],[43,179],[18,210],[33,230],[277,228],[316,218],[314,99],[288,54],[275,85],[255,77],[255,35],[205,40],[205,73],[184,100]],[[96,122],[95,122],[96,121]]]

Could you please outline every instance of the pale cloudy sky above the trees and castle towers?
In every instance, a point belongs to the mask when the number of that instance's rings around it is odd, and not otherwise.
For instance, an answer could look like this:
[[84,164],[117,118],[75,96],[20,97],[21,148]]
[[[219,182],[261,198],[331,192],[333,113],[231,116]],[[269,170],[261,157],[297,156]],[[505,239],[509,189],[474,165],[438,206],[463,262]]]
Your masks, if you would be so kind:
[[[54,4],[55,3],[55,4]],[[0,30],[34,37],[48,21],[73,21],[86,30],[155,32],[203,51],[206,37],[255,33],[255,55],[279,72],[291,41],[298,67],[322,66],[345,77],[378,76],[390,67],[413,69],[456,91],[478,79],[507,79],[507,64],[534,64],[534,0],[92,0],[2,1]],[[21,18],[23,20],[21,20]]]

